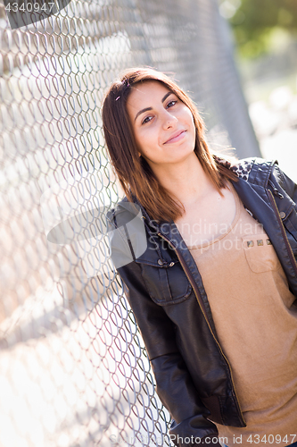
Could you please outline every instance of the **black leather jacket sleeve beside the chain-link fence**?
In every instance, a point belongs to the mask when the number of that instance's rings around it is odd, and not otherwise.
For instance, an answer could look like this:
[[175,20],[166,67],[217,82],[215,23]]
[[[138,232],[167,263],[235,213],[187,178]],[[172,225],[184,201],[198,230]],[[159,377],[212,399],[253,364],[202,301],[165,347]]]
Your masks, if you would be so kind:
[[[114,226],[113,223],[113,228]],[[164,308],[150,298],[142,277],[141,265],[130,261],[128,241],[110,237],[111,259],[124,283],[125,294],[136,317],[136,323],[143,336],[144,344],[153,367],[156,391],[172,418],[170,439],[178,447],[195,445],[218,446],[218,430],[207,417],[210,411],[202,404],[193,380],[177,349],[175,326]],[[216,438],[216,439],[214,439]]]

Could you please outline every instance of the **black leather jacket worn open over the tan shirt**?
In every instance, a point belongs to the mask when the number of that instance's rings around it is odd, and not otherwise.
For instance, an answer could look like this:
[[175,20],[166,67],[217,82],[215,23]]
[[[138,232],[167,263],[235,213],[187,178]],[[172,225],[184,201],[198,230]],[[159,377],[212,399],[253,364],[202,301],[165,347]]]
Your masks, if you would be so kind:
[[[277,162],[247,158],[230,168],[239,177],[233,186],[243,206],[262,223],[297,297],[297,185]],[[127,203],[125,198],[108,214],[111,229],[131,220]],[[213,422],[245,426],[245,421],[194,258],[173,222],[160,225],[141,211],[147,249],[136,257],[137,231],[129,229],[133,260],[117,270],[127,286],[158,395],[172,417],[170,437],[178,446],[196,445],[183,439],[218,434]],[[111,238],[112,259],[122,250],[116,239]]]

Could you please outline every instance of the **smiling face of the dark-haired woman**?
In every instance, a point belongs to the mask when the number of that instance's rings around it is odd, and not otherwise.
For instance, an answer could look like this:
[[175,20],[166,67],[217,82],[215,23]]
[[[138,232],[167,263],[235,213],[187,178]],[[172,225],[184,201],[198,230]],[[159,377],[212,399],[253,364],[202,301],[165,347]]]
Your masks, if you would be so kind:
[[153,168],[180,163],[193,154],[194,119],[190,109],[158,80],[137,84],[127,102],[139,154]]

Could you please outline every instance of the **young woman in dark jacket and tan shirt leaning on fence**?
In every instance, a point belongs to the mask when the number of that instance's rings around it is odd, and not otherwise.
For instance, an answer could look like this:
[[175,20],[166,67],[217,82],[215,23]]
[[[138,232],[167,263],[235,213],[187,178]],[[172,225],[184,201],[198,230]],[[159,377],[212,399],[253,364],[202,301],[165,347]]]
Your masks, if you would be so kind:
[[111,85],[103,130],[127,196],[111,256],[171,440],[297,445],[297,185],[276,162],[211,155],[190,98],[151,69]]

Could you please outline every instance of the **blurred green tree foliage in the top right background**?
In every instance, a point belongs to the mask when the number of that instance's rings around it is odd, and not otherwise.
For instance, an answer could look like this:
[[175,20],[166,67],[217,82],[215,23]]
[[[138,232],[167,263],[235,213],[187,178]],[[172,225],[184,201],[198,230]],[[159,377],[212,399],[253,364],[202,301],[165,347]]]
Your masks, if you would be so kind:
[[222,0],[219,9],[230,22],[243,56],[267,51],[276,30],[297,34],[297,0]]

